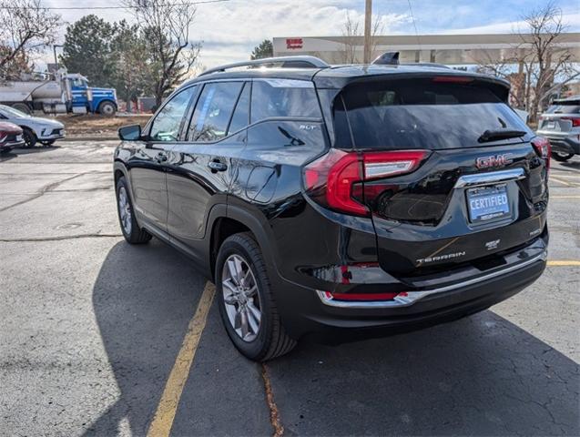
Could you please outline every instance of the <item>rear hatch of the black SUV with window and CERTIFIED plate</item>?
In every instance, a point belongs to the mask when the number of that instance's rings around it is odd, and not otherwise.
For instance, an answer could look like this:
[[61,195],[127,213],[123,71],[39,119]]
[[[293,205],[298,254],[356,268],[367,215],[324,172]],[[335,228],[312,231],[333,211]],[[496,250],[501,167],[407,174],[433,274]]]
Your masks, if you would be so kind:
[[336,146],[360,157],[351,197],[369,211],[382,269],[401,278],[484,267],[542,234],[549,144],[507,93],[500,81],[441,74],[342,89]]

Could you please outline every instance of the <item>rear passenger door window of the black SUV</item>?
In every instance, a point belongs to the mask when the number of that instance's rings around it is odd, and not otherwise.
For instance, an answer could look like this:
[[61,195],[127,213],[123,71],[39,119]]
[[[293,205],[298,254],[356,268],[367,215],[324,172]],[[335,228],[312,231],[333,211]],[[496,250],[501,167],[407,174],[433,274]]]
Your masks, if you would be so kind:
[[190,141],[217,141],[226,136],[243,82],[216,82],[203,87],[189,125]]

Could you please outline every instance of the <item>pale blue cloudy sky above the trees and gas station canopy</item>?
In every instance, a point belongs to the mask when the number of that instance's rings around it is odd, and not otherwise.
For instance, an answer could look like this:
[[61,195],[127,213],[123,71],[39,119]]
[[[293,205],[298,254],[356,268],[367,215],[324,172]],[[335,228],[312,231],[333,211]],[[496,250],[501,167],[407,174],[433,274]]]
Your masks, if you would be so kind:
[[[195,1],[195,0],[194,0]],[[384,35],[494,34],[524,30],[522,15],[548,0],[373,0]],[[43,0],[43,5],[107,6],[114,0]],[[555,1],[568,31],[580,32],[580,2]],[[411,5],[411,8],[410,8]],[[411,14],[412,10],[412,14]],[[107,21],[132,17],[124,10],[58,10],[66,23],[87,14]],[[228,0],[198,5],[192,41],[202,42],[199,61],[205,67],[249,58],[254,46],[275,36],[338,36],[345,16],[362,23],[364,0]],[[413,25],[414,20],[414,25]],[[64,30],[61,33],[62,44]],[[47,57],[50,62],[50,57]]]

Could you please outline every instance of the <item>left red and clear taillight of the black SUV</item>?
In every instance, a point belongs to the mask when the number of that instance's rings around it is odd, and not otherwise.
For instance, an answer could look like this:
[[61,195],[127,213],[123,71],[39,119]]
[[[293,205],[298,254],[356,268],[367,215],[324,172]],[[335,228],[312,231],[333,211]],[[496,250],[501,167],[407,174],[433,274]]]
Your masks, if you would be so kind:
[[310,198],[328,208],[368,216],[369,208],[361,203],[361,182],[411,173],[428,154],[425,150],[345,152],[332,148],[304,168],[304,188]]

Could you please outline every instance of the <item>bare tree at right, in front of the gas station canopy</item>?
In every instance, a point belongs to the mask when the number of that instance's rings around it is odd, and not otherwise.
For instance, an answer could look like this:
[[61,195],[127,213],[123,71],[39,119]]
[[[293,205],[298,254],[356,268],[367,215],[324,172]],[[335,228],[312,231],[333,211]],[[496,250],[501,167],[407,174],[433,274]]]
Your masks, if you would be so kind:
[[526,29],[518,32],[520,42],[505,50],[503,59],[483,52],[475,61],[484,72],[510,80],[516,106],[525,107],[534,123],[555,79],[567,81],[578,72],[571,62],[572,53],[560,45],[566,25],[555,3],[534,9],[523,18]]

